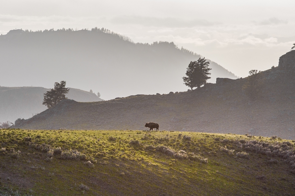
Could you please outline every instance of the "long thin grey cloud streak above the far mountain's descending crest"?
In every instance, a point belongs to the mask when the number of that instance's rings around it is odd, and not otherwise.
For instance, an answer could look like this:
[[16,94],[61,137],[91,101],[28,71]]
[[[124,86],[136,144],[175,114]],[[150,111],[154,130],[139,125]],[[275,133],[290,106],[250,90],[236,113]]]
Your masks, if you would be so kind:
[[191,28],[196,26],[213,26],[218,23],[203,19],[184,20],[173,17],[116,16],[110,20],[114,24],[134,24],[150,27]]

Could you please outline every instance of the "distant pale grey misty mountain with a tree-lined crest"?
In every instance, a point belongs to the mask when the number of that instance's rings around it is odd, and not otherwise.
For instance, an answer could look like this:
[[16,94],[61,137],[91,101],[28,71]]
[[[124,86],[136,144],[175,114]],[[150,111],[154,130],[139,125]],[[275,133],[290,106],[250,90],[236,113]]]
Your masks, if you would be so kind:
[[[183,91],[186,68],[200,56],[173,43],[132,43],[101,31],[24,32],[0,36],[1,86],[51,86],[65,80],[79,89],[99,91],[105,99],[132,94]],[[212,62],[211,83],[217,77],[236,79]],[[8,82],[9,80],[9,82]],[[6,82],[7,81],[7,82]],[[136,81],[136,82],[135,82]]]

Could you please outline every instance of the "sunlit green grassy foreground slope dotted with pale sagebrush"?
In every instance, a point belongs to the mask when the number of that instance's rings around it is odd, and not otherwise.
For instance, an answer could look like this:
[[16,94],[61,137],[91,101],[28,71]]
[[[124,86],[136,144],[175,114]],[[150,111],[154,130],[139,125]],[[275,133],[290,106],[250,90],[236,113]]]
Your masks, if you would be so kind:
[[294,195],[294,140],[0,130],[0,195]]

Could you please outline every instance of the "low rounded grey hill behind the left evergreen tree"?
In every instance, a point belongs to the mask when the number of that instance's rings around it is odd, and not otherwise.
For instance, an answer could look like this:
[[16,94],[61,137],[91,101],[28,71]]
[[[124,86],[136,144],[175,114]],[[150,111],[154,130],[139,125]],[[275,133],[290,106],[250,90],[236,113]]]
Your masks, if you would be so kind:
[[[66,95],[78,102],[102,101],[94,93],[69,88]],[[18,118],[30,118],[47,109],[42,105],[43,94],[50,89],[43,87],[4,87],[0,86],[0,122],[14,122]]]

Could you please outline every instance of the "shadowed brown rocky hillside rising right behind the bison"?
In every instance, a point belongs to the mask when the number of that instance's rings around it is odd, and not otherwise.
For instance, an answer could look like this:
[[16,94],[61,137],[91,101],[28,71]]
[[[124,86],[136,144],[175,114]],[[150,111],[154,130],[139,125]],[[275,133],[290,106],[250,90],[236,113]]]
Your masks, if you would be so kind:
[[243,92],[247,78],[219,79],[192,92],[140,95],[104,102],[64,100],[16,127],[26,129],[146,129],[157,122],[160,130],[189,130],[294,138],[295,51],[263,72],[259,98]]

